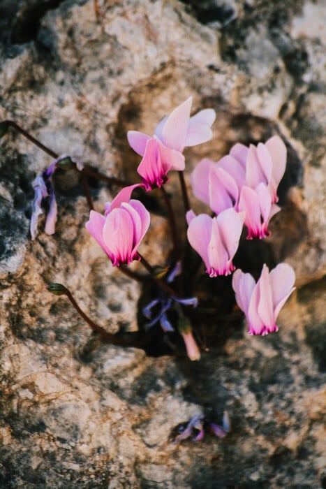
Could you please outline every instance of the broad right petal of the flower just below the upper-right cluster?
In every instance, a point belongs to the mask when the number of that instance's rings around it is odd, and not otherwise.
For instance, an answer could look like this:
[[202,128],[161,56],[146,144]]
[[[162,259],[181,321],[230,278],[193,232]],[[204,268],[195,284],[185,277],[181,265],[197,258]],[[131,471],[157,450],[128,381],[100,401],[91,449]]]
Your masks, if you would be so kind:
[[224,210],[216,217],[223,245],[231,261],[239,247],[239,240],[244,225],[244,214],[238,214],[233,208]]

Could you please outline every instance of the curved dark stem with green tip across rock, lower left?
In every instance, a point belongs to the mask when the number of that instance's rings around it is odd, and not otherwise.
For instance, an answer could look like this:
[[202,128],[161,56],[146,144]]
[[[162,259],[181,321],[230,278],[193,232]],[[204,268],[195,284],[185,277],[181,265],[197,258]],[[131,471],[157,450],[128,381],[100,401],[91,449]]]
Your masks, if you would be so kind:
[[[79,305],[77,304],[77,302],[75,301],[75,298],[73,298],[73,294],[71,293],[71,291],[69,291],[69,289],[67,289],[66,287],[60,285],[60,284],[54,284],[54,287],[55,286],[58,286],[59,285],[59,293],[57,293],[56,291],[54,291],[52,289],[52,286],[48,286],[48,290],[51,292],[54,292],[56,293],[56,295],[66,295],[66,297],[68,298],[68,300],[71,302],[71,305],[73,305],[74,309],[77,311],[77,313],[82,317],[82,319],[84,319],[84,321],[87,322],[87,324],[91,327],[91,329],[94,331],[94,333],[98,333],[99,335],[101,335],[101,337],[103,338],[103,340],[106,340],[112,344],[115,344],[115,345],[118,345],[118,346],[141,346],[141,345],[144,345],[146,344],[147,342],[149,342],[149,340],[151,339],[150,338],[150,335],[147,335],[147,337],[135,337],[134,340],[124,340],[122,338],[119,338],[117,337],[117,335],[112,335],[112,333],[108,333],[108,331],[106,331],[104,328],[102,328],[101,326],[98,326],[98,324],[94,323],[94,321],[92,321],[89,316],[87,316],[87,314],[84,313],[84,311],[82,311],[82,309],[80,309]],[[130,333],[132,334],[132,333]]]

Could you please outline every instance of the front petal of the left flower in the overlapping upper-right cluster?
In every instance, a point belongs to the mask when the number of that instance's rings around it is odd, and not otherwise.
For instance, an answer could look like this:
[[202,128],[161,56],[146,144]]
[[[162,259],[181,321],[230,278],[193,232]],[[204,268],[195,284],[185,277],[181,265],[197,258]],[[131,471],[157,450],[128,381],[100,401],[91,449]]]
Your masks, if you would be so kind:
[[209,207],[216,214],[225,209],[234,207],[239,197],[239,189],[232,176],[220,168],[212,165],[209,170]]

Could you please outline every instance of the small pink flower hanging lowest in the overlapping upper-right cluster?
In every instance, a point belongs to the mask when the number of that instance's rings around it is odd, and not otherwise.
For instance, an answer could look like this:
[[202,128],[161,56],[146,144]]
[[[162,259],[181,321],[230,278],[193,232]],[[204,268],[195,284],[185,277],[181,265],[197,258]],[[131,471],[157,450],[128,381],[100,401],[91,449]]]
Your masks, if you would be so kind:
[[238,205],[239,212],[244,212],[244,224],[248,229],[247,240],[266,238],[269,221],[281,210],[272,204],[272,198],[266,184],[260,183],[255,189],[244,185],[241,189]]

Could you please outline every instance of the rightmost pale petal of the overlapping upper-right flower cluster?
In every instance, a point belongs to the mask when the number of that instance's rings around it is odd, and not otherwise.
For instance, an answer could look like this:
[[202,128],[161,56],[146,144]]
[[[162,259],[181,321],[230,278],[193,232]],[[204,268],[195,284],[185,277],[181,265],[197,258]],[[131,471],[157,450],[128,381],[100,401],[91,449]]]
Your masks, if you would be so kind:
[[286,171],[286,145],[279,136],[273,136],[266,141],[265,146],[267,147],[273,162],[272,178],[269,183],[269,189],[272,195],[272,203],[275,203],[279,200],[276,194],[277,187]]

